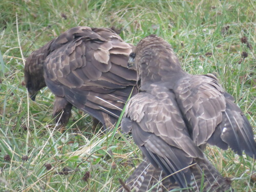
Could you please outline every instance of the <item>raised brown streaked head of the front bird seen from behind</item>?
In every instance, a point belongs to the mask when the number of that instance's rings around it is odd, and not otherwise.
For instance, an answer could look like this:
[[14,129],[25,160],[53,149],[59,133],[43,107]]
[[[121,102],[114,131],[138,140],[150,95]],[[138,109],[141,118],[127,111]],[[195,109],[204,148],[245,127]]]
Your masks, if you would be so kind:
[[128,65],[136,66],[141,85],[161,81],[172,73],[183,71],[172,47],[156,35],[140,40],[130,54]]

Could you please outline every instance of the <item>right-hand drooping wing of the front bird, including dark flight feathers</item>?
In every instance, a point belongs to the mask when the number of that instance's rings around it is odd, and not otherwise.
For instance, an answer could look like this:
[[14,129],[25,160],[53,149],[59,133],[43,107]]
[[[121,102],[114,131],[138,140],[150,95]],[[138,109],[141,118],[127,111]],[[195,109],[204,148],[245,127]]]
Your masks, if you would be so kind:
[[211,75],[187,75],[174,88],[177,102],[191,136],[199,146],[205,143],[239,155],[256,156],[251,126],[233,97]]

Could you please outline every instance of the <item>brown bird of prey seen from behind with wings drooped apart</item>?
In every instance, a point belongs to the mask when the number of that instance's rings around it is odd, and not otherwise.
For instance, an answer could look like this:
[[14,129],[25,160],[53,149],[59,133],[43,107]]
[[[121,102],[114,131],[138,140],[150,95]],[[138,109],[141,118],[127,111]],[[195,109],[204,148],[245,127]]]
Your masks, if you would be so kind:
[[127,103],[122,130],[132,132],[146,159],[181,188],[231,190],[203,150],[209,143],[256,156],[252,128],[233,97],[214,75],[183,71],[171,46],[156,35],[142,39],[130,60],[140,93]]

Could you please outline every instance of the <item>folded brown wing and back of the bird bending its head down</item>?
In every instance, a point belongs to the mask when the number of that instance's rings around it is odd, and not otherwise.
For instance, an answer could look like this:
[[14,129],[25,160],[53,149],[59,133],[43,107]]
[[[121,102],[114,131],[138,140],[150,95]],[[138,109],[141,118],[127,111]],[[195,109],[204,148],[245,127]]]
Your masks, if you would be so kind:
[[122,100],[130,95],[137,79],[136,71],[127,68],[132,45],[110,29],[75,27],[54,39],[49,49],[44,77],[56,96],[65,97],[84,111],[89,109],[100,118],[103,116],[92,110],[114,118],[120,115]]

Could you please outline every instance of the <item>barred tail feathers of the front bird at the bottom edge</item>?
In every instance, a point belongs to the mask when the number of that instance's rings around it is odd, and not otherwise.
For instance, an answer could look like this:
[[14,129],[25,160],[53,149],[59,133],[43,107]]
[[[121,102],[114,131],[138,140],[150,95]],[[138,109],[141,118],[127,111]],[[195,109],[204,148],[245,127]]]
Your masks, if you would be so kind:
[[[171,182],[160,168],[143,161],[133,174],[121,183],[118,192],[162,192],[176,189],[182,192],[231,192],[231,181],[223,178],[218,170],[207,159],[195,159],[190,167],[191,182],[187,188],[181,189],[179,184]],[[180,189],[180,190],[179,190]]]

